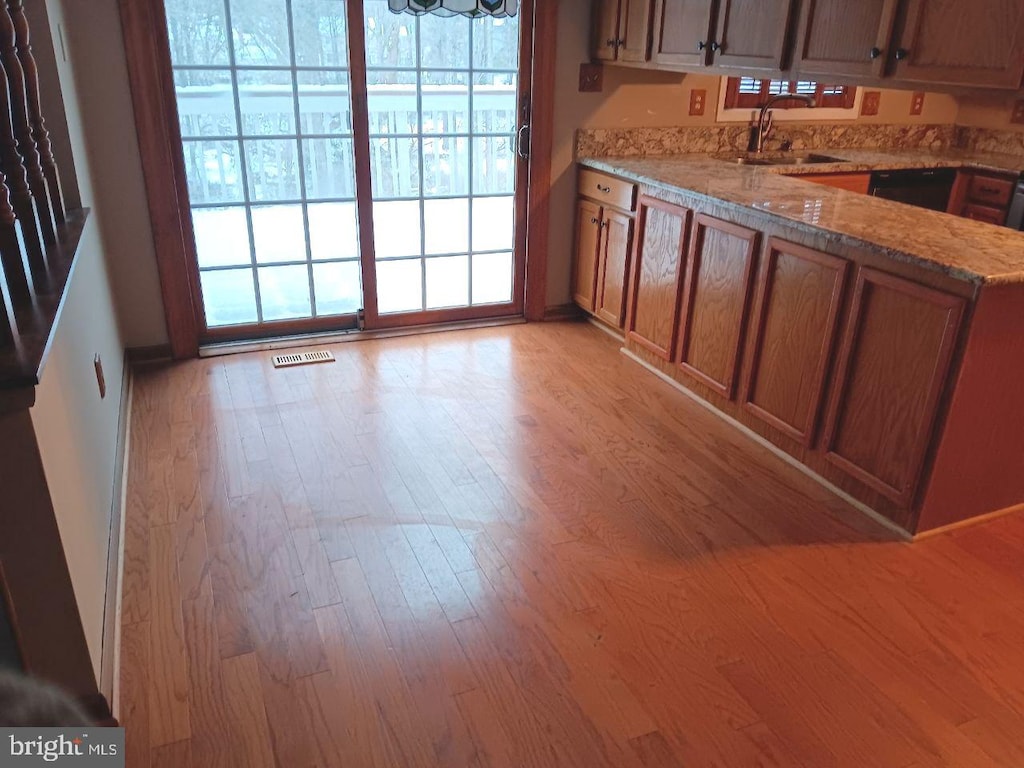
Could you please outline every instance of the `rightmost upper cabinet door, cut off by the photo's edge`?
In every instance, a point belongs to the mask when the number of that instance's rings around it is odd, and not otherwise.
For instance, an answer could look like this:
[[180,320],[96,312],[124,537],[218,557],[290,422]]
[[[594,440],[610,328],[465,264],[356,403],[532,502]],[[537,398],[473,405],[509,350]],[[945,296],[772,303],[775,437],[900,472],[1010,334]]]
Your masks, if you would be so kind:
[[893,75],[899,80],[1019,88],[1020,0],[907,0]]

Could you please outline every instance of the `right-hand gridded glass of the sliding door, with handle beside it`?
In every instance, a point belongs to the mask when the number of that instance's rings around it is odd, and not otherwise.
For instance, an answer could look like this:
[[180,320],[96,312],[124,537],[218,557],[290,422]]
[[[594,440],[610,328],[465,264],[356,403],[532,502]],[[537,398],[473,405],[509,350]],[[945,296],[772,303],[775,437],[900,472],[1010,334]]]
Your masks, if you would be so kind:
[[364,9],[378,312],[511,304],[518,20],[387,6]]

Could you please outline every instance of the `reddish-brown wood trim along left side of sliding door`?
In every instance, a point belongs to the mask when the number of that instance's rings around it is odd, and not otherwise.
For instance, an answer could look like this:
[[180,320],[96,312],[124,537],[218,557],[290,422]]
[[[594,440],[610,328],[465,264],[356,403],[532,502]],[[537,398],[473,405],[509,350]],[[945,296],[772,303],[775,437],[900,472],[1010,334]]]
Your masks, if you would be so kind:
[[154,248],[176,358],[199,354],[199,288],[164,0],[119,0]]

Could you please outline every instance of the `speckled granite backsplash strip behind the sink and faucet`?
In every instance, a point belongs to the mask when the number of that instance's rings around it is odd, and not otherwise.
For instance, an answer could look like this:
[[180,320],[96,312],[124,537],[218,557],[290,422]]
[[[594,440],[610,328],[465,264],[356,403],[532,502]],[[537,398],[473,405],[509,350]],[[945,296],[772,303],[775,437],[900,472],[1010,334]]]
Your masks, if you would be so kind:
[[[745,150],[750,129],[743,125],[685,128],[584,128],[577,131],[577,157],[651,157],[686,153]],[[955,145],[952,125],[865,125],[786,123],[772,134],[768,148],[783,140],[795,150],[874,147],[946,150]]]

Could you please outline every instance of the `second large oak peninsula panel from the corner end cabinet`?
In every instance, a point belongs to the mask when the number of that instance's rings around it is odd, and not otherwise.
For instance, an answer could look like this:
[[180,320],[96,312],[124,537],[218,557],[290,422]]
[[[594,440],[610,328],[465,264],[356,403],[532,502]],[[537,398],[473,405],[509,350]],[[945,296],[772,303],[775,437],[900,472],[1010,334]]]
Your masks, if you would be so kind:
[[703,214],[693,221],[678,362],[723,397],[735,391],[760,238]]

